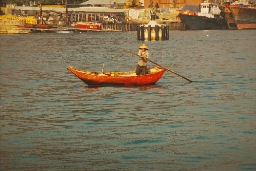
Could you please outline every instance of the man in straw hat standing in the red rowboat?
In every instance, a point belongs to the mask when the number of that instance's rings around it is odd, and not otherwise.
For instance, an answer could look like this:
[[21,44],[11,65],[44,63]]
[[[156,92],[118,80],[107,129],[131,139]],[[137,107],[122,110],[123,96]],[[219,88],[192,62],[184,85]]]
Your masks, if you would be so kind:
[[149,53],[148,53],[148,47],[143,44],[139,47],[139,62],[137,65],[137,69],[136,69],[136,75],[145,75],[147,74],[147,60],[149,58]]

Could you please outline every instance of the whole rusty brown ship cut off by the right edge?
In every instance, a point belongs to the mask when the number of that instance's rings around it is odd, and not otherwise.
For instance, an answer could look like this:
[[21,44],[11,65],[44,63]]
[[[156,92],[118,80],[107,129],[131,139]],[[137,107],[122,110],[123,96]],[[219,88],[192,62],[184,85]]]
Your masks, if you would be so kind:
[[226,19],[229,29],[256,28],[255,7],[248,1],[240,0],[227,5],[222,16]]

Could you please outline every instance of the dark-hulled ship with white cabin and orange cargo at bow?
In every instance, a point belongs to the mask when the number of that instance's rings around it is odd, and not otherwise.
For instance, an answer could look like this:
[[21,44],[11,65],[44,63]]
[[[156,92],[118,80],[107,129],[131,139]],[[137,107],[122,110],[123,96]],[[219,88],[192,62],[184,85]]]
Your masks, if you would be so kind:
[[204,1],[200,4],[200,12],[181,10],[178,16],[185,30],[227,29],[226,20],[220,12],[218,4]]

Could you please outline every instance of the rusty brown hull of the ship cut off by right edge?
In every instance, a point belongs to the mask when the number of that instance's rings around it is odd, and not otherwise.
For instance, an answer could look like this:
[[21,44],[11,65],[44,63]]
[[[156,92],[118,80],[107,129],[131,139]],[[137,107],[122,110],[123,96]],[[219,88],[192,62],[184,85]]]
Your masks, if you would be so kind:
[[256,8],[230,7],[238,29],[256,28]]

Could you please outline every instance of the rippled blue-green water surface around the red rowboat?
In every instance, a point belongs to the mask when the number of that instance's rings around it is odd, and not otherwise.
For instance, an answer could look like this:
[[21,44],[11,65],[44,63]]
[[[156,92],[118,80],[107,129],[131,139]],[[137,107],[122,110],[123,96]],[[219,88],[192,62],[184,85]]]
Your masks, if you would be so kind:
[[[256,30],[0,35],[0,170],[256,170]],[[67,66],[155,85],[89,87]],[[148,67],[155,66],[148,63]]]

